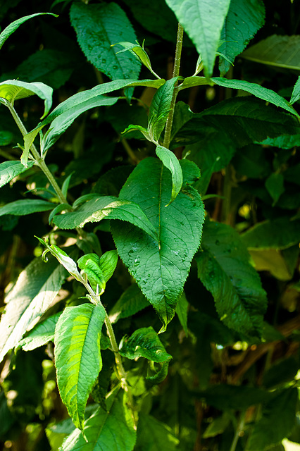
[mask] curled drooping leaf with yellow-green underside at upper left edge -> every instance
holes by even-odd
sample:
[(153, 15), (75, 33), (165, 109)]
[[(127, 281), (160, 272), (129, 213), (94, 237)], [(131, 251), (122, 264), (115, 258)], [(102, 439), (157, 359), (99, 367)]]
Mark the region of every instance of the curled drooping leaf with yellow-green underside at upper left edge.
[(41, 82), (26, 83), (20, 82), (19, 80), (6, 80), (5, 82), (0, 83), (0, 98), (5, 99), (11, 105), (13, 105), (15, 100), (25, 99), (25, 97), (30, 97), (34, 94), (44, 100), (45, 109), (42, 118), (44, 118), (51, 109), (52, 92), (53, 89), (50, 86), (44, 85), (44, 83)]

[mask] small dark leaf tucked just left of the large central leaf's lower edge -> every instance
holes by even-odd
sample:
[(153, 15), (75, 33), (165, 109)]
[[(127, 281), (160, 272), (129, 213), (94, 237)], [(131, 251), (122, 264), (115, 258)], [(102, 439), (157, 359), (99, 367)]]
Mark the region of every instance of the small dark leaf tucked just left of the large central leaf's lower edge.
[(136, 283), (130, 285), (120, 299), (115, 303), (109, 312), (111, 323), (116, 323), (119, 319), (128, 318), (135, 315), (138, 311), (149, 307), (149, 301), (144, 297)]

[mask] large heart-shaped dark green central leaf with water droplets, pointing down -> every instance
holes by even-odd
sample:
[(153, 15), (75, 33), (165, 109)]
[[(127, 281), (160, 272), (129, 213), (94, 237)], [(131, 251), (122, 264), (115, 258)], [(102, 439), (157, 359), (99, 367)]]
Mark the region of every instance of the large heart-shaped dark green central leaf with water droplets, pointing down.
[(159, 243), (132, 225), (112, 223), (118, 254), (163, 321), (175, 313), (177, 300), (201, 240), (204, 207), (188, 183), (199, 177), (191, 161), (180, 162), (182, 190), (169, 206), (170, 171), (157, 159), (147, 158), (132, 171), (120, 191), (120, 199), (139, 204), (158, 233)]

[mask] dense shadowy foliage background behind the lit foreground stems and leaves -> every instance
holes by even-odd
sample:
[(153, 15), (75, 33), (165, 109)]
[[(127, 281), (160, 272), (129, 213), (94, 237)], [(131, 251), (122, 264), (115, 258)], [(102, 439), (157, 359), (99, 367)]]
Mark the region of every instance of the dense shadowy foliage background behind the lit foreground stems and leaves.
[[(116, 4), (3, 0), (1, 30), (37, 12), (52, 12), (58, 17), (37, 16), (9, 37), (1, 48), (0, 82), (15, 78), (43, 82), (54, 89), (53, 104), (57, 106), (77, 92), (110, 80), (154, 78), (128, 52), (121, 54), (127, 58), (123, 73), (118, 72), (113, 61), (106, 61), (101, 37), (95, 30), (97, 8), (105, 3), (122, 8), (135, 30), (131, 31), (131, 39), (123, 37), (122, 28), (118, 28), (118, 20), (123, 19), (112, 10), (107, 20), (115, 30), (114, 43), (135, 43), (137, 39), (142, 44), (144, 40), (155, 73), (165, 80), (172, 78), (177, 19), (164, 0), (118, 0)], [(246, 15), (246, 4), (250, 12), (255, 11), (254, 19), (252, 13)], [(217, 58), (212, 75), (254, 82), (289, 100), (300, 73), (299, 1), (232, 0), (230, 8), (229, 31), (221, 35), (218, 51), (232, 61), (239, 56), (234, 66), (222, 56), (220, 61)], [(230, 30), (235, 32), (230, 35)], [(237, 49), (232, 49), (235, 45)], [(198, 56), (185, 34), (182, 77), (194, 74)], [(206, 222), (177, 314), (166, 331), (157, 335), (163, 352), (172, 356), (171, 360), (168, 357), (168, 370), (165, 368), (163, 375), (158, 371), (160, 376), (155, 381), (153, 374), (161, 361), (151, 362), (148, 367), (145, 356), (124, 359), (139, 412), (134, 447), (137, 451), (300, 449), (300, 445), (291, 447), (291, 442), (300, 443), (299, 122), (265, 99), (256, 99), (234, 87), (192, 86), (182, 89), (177, 97), (170, 149), (183, 159), (183, 165), (194, 161), (201, 170), (193, 186), (204, 201)], [(54, 143), (46, 163), (60, 186), (70, 181), (70, 204), (85, 194), (118, 196), (138, 163), (156, 157), (156, 146), (139, 130), (121, 135), (130, 124), (147, 126), (155, 92), (154, 87), (144, 86), (135, 87), (134, 92), (132, 88), (118, 91), (123, 99), (85, 111)], [(37, 96), (15, 101), (15, 109), (28, 131), (36, 127), (44, 111)], [(299, 111), (298, 99), (294, 109)], [(23, 146), (23, 137), (8, 109), (0, 105), (1, 162), (20, 159), (22, 149), (17, 143)], [(159, 160), (155, 161), (153, 172)], [(187, 180), (196, 179), (188, 171), (184, 175)], [(143, 177), (146, 180), (146, 171)], [(146, 189), (141, 185), (142, 193)], [(18, 199), (58, 204), (56, 193), (36, 166), (1, 187), (1, 206)], [(42, 245), (35, 236), (50, 235), (52, 243), (68, 248), (68, 254), (76, 260), (82, 252), (101, 255), (120, 246), (123, 237), (118, 235), (118, 227), (129, 227), (113, 220), (110, 229), (108, 219), (87, 223), (85, 235), (78, 240), (75, 230), (59, 230), (53, 223), (49, 226), (48, 220), (49, 211), (7, 214), (0, 208), (2, 311), (4, 292), (9, 299), (18, 275), (42, 254)], [(174, 240), (173, 246), (177, 252), (180, 244)], [(158, 333), (162, 322), (135, 283), (135, 271), (119, 247), (118, 253), (125, 264), (119, 259), (101, 301), (111, 316), (119, 343), (137, 329), (151, 326)], [(48, 265), (55, 263), (49, 261)], [(50, 274), (51, 266), (45, 267)], [(261, 277), (261, 285), (253, 267)], [(32, 275), (39, 271), (35, 266), (30, 268)], [(48, 276), (41, 273), (41, 277)], [(142, 288), (139, 274), (136, 279)], [(42, 319), (59, 314), (65, 306), (87, 302), (82, 297), (85, 288), (72, 277), (66, 278)], [(235, 302), (241, 299), (250, 326), (242, 307), (235, 310)], [(109, 344), (101, 342), (101, 347), (103, 369), (89, 396), (86, 418), (95, 412), (95, 403), (104, 412), (109, 410), (105, 396), (118, 382)], [(123, 354), (128, 357), (125, 347), (123, 343)], [(74, 426), (58, 393), (52, 341), (30, 352), (12, 351), (0, 369), (3, 449), (58, 450)], [(118, 428), (116, 431), (118, 435)], [(76, 449), (96, 449), (82, 443)], [(63, 449), (75, 450), (67, 446)], [(132, 447), (115, 445), (107, 449), (127, 451)]]

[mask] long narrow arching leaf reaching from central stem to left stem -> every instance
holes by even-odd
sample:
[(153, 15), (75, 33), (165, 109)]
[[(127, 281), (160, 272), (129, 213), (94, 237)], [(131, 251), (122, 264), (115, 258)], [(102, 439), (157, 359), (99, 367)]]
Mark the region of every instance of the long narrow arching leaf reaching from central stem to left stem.
[[(49, 132), (43, 138), (42, 145), (44, 151), (48, 149), (58, 137), (68, 128), (71, 123), (79, 116), (79, 114), (87, 111), (88, 109), (94, 108), (99, 105), (114, 104), (117, 101), (115, 97), (103, 97), (102, 94), (108, 94), (108, 92), (117, 91), (124, 87), (133, 86), (148, 86), (148, 87), (160, 87), (163, 85), (165, 80), (114, 80), (113, 82), (103, 83), (87, 91), (77, 92), (73, 96), (69, 97), (67, 100), (61, 102), (56, 109), (47, 116), (44, 121), (39, 123), (36, 128), (31, 132), (27, 133), (24, 138), (25, 151), (28, 152), (32, 142), (38, 135), (39, 131), (45, 125), (50, 124), (58, 116), (63, 115), (62, 119), (57, 119), (55, 123), (55, 130), (51, 132), (51, 127)], [(112, 103), (110, 103), (112, 102)]]

